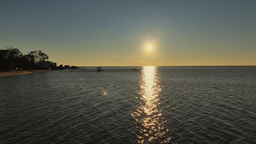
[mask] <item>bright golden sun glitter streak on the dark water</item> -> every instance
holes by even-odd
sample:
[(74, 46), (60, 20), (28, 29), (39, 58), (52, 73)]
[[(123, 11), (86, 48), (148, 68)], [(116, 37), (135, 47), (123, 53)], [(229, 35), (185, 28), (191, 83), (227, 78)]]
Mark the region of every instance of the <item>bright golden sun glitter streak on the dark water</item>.
[(168, 129), (164, 128), (166, 121), (158, 110), (161, 87), (155, 67), (143, 67), (141, 80), (141, 106), (131, 114), (137, 122), (135, 134), (138, 143), (169, 143)]

